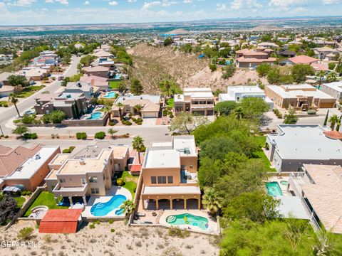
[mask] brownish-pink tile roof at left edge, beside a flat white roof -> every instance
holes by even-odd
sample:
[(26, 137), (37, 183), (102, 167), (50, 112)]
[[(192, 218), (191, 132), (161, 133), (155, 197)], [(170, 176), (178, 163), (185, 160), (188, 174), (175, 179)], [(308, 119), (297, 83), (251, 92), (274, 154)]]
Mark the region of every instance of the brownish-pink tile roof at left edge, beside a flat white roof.
[(11, 174), (11, 172), (21, 166), (26, 159), (34, 156), (41, 149), (41, 146), (41, 144), (37, 144), (31, 149), (24, 146), (17, 146), (15, 149), (0, 154), (0, 177)]

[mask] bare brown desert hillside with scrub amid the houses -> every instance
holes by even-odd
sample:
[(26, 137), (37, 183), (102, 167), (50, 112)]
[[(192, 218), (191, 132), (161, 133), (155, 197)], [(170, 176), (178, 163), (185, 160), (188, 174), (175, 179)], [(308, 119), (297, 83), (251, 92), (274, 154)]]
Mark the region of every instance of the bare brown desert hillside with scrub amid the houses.
[[(237, 72), (224, 80), (221, 78), (222, 70), (215, 72), (209, 70), (209, 60), (198, 60), (197, 55), (182, 53), (172, 47), (154, 47), (140, 44), (128, 50), (133, 56), (133, 68), (130, 76), (138, 78), (146, 93), (159, 92), (159, 82), (165, 78), (173, 78), (181, 88), (183, 87), (212, 87), (227, 90), (229, 85), (247, 85), (256, 82), (259, 78), (254, 70), (237, 70)], [(266, 80), (262, 80), (266, 84)]]

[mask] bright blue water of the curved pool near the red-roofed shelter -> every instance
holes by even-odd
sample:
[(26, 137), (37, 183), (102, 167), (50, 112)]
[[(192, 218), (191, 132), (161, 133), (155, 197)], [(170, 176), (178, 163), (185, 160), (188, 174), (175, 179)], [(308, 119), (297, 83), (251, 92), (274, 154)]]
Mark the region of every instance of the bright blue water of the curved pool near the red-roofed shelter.
[(115, 210), (115, 215), (122, 215), (123, 210), (118, 209), (123, 202), (125, 202), (127, 198), (123, 195), (116, 195), (110, 198), (110, 201), (105, 203), (95, 203), (93, 207), (90, 209), (90, 213), (94, 216), (105, 216), (110, 213), (112, 210)]

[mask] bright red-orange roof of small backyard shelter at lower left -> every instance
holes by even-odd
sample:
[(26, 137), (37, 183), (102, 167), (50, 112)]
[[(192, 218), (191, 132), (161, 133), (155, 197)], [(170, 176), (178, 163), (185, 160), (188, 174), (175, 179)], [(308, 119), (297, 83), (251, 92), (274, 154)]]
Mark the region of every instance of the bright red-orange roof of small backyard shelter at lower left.
[(48, 210), (39, 225), (39, 233), (76, 233), (82, 209)]

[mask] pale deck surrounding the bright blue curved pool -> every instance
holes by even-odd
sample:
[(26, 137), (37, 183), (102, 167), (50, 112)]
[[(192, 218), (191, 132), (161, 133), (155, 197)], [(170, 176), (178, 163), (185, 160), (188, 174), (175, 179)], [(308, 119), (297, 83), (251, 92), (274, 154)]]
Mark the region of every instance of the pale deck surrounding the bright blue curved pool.
[[(132, 200), (132, 194), (130, 193), (130, 191), (128, 191), (128, 189), (120, 187), (120, 186), (112, 186), (112, 188), (110, 188), (110, 190), (107, 191), (107, 194), (105, 196), (90, 196), (90, 199), (87, 203), (87, 206), (84, 208), (82, 216), (83, 217), (87, 217), (87, 218), (101, 218), (100, 216), (94, 216), (93, 214), (90, 213), (90, 209), (93, 207), (93, 205), (95, 203), (106, 203), (108, 201), (110, 201), (110, 198), (112, 198), (113, 196), (117, 196), (117, 195), (123, 195), (127, 198), (127, 200)], [(108, 213), (107, 215), (103, 216), (104, 218), (122, 218), (123, 216), (120, 215), (115, 215), (115, 210), (113, 209), (112, 211), (110, 211), (110, 213)]]

